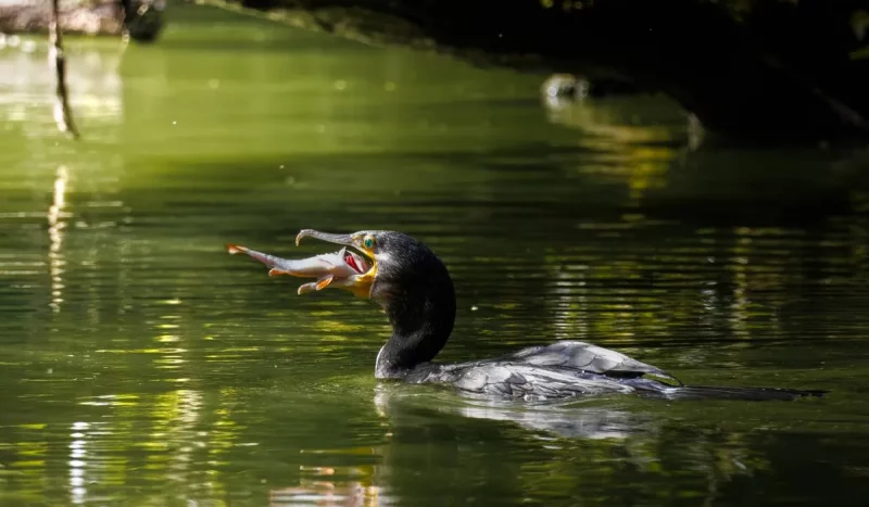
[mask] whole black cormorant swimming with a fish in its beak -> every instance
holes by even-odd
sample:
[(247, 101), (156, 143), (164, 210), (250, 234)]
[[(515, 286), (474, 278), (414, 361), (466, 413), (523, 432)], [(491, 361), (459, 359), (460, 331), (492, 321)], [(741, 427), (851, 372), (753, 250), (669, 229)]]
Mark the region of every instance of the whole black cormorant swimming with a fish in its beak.
[[(312, 266), (316, 261), (305, 259), (308, 263), (305, 276), (320, 280), (315, 284), (317, 291), (330, 287), (345, 289), (383, 308), (392, 325), (392, 335), (377, 355), (375, 377), (378, 379), (445, 384), (466, 393), (526, 401), (614, 393), (751, 401), (823, 394), (822, 391), (792, 389), (685, 385), (660, 368), (579, 341), (527, 347), (493, 359), (434, 363), (453, 331), (456, 314), (452, 279), (434, 252), (420, 241), (395, 231), (332, 235), (305, 229), (299, 232), (297, 244), (305, 237), (356, 249), (368, 258), (369, 262), (360, 262), (358, 257), (342, 254), (347, 255), (343, 257), (347, 265), (324, 262), (322, 272), (315, 272)], [(248, 253), (272, 268), (273, 263), (286, 261), (243, 246), (228, 245), (228, 250)]]

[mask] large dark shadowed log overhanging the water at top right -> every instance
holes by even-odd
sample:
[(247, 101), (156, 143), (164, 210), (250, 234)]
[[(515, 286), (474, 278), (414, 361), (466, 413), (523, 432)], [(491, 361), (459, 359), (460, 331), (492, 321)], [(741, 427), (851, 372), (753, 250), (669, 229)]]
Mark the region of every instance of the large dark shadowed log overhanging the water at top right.
[(869, 137), (864, 1), (240, 0), (366, 42), (633, 83), (709, 130), (785, 140)]

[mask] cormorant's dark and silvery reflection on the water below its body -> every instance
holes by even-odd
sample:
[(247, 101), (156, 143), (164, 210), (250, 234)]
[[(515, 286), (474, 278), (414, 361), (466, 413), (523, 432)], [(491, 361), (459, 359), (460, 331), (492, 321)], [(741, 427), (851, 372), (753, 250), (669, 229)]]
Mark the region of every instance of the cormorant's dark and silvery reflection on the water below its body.
[[(463, 471), (471, 474), (488, 468), (490, 472), (502, 476), (500, 481), (498, 477), (490, 480), (503, 485), (492, 487), (489, 492), (492, 497), (477, 498), (487, 504), (496, 505), (501, 498), (515, 500), (515, 495), (550, 502), (569, 497), (571, 502), (578, 502), (599, 494), (612, 494), (607, 492), (608, 486), (601, 484), (610, 481), (619, 484), (618, 491), (626, 499), (640, 499), (657, 496), (659, 492), (650, 495), (652, 492), (648, 490), (654, 489), (650, 489), (650, 484), (660, 481), (696, 503), (710, 505), (728, 483), (765, 473), (770, 467), (769, 461), (757, 455), (748, 439), (739, 431), (728, 433), (691, 424), (677, 430), (653, 414), (625, 409), (617, 400), (530, 408), (506, 404), (495, 406), (495, 403), (487, 407), (470, 407), (453, 402), (451, 409), (444, 407), (451, 404), (446, 397), (438, 401), (437, 408), (432, 408), (434, 398), (431, 396), (417, 394), (416, 397), (414, 400), (406, 391), (399, 390), (378, 393), (378, 409), (383, 410), (383, 417), (389, 417), (396, 443), (406, 444), (418, 439), (420, 433), (433, 433), (434, 424), (443, 424), (443, 418), (432, 417), (432, 411), (511, 420), (534, 431), (531, 442), (516, 442), (517, 434), (513, 432), (500, 434), (496, 431), (480, 438), (484, 429), (479, 429), (475, 436), (462, 434), (475, 433), (475, 430), (465, 429), (449, 438), (441, 434), (437, 438), (437, 445), (428, 447), (426, 457), (429, 465), (423, 466), (423, 473), (418, 474), (424, 477), (417, 479), (418, 482), (426, 480), (426, 473), (446, 464), (455, 467), (461, 462)], [(385, 449), (385, 461), (378, 467), (378, 474), (392, 477), (394, 484), (412, 482), (406, 476), (420, 471), (418, 461), (411, 461), (417, 453), (402, 453), (402, 447), (406, 445)], [(536, 451), (531, 453), (529, 447)], [(468, 467), (463, 462), (487, 460), (490, 453), (506, 458), (500, 469), (495, 467), (492, 470), (491, 465)], [(514, 454), (521, 458), (512, 459)], [(411, 466), (412, 462), (416, 465)], [(644, 480), (633, 482), (639, 477)]]

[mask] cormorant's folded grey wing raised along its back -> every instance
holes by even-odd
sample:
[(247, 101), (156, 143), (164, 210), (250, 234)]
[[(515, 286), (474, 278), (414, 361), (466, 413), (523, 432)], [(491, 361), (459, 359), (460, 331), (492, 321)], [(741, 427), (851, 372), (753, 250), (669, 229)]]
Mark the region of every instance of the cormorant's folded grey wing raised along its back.
[(647, 373), (682, 384), (679, 379), (660, 368), (585, 342), (561, 341), (551, 345), (532, 346), (511, 354), (504, 359), (551, 368), (575, 368), (612, 377), (642, 377)]

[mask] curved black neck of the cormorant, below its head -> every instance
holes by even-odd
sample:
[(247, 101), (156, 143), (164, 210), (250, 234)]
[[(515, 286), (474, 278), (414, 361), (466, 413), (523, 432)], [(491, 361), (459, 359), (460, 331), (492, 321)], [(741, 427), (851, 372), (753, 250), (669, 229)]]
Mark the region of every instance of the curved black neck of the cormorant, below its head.
[(392, 337), (377, 355), (375, 377), (404, 378), (438, 355), (453, 332), (455, 291), (446, 267), (433, 254), (404, 276), (377, 282), (377, 300), (392, 325)]

